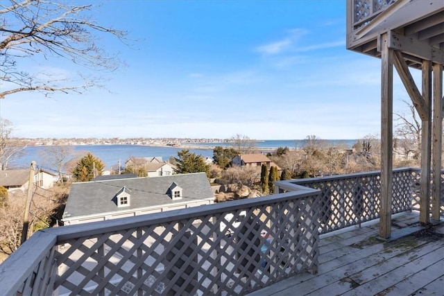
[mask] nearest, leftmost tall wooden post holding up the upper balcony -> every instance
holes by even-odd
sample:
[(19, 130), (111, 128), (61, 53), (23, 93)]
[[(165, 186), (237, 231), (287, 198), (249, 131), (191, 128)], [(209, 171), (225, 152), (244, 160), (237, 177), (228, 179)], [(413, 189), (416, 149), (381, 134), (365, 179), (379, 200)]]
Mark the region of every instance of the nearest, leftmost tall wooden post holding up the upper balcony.
[(393, 50), (388, 49), (387, 33), (380, 36), (381, 48), (381, 209), (379, 236), (391, 236), (393, 176)]

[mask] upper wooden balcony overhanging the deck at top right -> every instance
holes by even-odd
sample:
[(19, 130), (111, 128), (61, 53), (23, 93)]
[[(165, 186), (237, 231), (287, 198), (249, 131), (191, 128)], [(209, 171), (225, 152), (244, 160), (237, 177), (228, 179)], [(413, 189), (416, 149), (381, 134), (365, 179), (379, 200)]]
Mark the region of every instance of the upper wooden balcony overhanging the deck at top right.
[(423, 60), (444, 64), (444, 1), (347, 1), (347, 49), (380, 58), (383, 33), (409, 67), (420, 69)]

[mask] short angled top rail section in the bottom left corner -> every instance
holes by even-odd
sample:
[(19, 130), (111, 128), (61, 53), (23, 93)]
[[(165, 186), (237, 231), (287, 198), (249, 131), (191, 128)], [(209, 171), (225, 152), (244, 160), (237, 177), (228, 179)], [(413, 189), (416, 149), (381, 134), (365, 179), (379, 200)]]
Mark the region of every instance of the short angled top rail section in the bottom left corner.
[(0, 264), (0, 295), (9, 295), (19, 290), (25, 279), (56, 245), (57, 236), (36, 232)]

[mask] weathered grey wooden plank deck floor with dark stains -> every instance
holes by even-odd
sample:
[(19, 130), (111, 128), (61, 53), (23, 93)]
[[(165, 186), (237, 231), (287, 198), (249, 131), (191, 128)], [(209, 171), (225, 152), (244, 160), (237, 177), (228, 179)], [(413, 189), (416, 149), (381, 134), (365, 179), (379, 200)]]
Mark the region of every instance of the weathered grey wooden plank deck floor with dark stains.
[[(392, 236), (418, 225), (416, 213), (398, 216)], [(249, 295), (444, 295), (443, 222), (391, 241), (378, 233), (374, 224), (324, 236), (317, 275), (297, 275)]]

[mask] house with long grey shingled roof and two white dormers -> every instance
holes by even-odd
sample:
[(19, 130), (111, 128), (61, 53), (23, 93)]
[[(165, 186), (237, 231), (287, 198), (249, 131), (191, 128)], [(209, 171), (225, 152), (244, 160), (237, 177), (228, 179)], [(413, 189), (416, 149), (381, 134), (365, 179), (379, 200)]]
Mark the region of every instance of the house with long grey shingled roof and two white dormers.
[(212, 203), (205, 173), (95, 180), (71, 185), (62, 220), (73, 225)]

